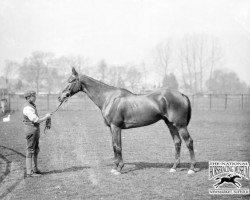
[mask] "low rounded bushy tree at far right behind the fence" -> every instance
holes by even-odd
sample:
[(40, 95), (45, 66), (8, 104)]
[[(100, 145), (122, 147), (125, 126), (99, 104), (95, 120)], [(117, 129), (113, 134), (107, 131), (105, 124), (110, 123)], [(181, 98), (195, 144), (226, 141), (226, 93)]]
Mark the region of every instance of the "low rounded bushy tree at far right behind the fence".
[(233, 71), (215, 70), (212, 77), (206, 82), (210, 92), (213, 93), (246, 93), (247, 85), (241, 82)]

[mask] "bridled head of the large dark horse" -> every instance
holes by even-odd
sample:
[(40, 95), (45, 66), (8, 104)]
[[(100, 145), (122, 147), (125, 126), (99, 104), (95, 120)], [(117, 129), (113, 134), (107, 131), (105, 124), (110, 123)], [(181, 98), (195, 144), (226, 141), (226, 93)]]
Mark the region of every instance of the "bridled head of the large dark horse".
[(82, 90), (81, 82), (79, 80), (79, 75), (75, 68), (72, 68), (72, 75), (67, 80), (67, 85), (60, 92), (58, 100), (60, 102), (65, 101), (67, 98), (73, 96), (77, 92)]

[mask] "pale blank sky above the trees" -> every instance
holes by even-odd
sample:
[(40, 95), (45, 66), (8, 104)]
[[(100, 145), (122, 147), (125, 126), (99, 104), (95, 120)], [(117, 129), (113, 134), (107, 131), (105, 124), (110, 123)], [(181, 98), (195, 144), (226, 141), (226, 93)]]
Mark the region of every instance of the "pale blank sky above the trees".
[(166, 38), (197, 33), (217, 37), (221, 67), (250, 85), (248, 0), (0, 0), (0, 75), (34, 51), (141, 63)]

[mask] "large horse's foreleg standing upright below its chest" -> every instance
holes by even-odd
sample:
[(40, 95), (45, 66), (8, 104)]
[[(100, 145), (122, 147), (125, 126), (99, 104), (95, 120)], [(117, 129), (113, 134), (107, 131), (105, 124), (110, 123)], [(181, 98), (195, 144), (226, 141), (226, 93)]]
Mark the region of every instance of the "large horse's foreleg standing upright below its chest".
[(113, 174), (120, 174), (124, 166), (122, 159), (122, 139), (121, 139), (121, 129), (115, 125), (111, 125), (112, 132), (112, 143), (113, 150), (115, 154), (115, 168), (111, 170)]

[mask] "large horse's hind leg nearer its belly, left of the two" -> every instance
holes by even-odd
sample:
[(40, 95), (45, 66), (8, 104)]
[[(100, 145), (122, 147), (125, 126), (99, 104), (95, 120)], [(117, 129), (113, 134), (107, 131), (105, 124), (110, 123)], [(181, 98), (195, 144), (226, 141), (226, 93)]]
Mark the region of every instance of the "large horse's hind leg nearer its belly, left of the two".
[(176, 168), (180, 164), (181, 138), (180, 138), (177, 128), (167, 119), (164, 119), (164, 121), (169, 128), (169, 131), (173, 138), (174, 146), (175, 146), (175, 163), (173, 167), (170, 169), (170, 172), (176, 172)]

